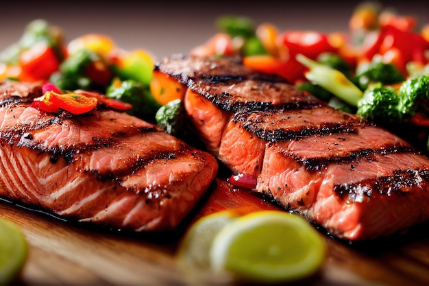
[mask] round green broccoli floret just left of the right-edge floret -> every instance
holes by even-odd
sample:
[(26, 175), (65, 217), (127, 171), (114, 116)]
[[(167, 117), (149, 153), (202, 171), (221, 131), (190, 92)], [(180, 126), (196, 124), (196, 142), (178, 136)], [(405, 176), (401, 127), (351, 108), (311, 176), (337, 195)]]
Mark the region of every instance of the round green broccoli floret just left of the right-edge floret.
[(400, 98), (394, 88), (378, 84), (365, 91), (358, 102), (356, 114), (364, 119), (378, 123), (394, 123), (400, 121), (397, 104)]

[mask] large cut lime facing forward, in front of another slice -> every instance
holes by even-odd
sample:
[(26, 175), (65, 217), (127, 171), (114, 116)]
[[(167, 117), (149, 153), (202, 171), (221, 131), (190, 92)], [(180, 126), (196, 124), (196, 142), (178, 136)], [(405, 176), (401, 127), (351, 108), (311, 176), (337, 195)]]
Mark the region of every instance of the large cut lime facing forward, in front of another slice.
[(219, 231), (210, 248), (210, 264), (245, 280), (278, 283), (315, 273), (325, 252), (321, 234), (303, 217), (259, 211)]

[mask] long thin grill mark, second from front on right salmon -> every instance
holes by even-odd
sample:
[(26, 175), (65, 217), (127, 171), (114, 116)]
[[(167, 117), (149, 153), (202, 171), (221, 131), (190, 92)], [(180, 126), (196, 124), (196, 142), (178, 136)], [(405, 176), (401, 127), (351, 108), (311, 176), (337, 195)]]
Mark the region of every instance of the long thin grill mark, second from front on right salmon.
[[(411, 147), (397, 147), (397, 146), (385, 146), (383, 149), (363, 149), (350, 152), (348, 156), (338, 157), (321, 157), (321, 158), (301, 158), (294, 156), (295, 160), (302, 163), (308, 171), (319, 171), (324, 167), (327, 167), (333, 163), (352, 163), (360, 160), (373, 160), (374, 154), (387, 155), (387, 154), (400, 154), (400, 153), (413, 153), (415, 150)], [(350, 169), (354, 169), (354, 165), (350, 165)]]

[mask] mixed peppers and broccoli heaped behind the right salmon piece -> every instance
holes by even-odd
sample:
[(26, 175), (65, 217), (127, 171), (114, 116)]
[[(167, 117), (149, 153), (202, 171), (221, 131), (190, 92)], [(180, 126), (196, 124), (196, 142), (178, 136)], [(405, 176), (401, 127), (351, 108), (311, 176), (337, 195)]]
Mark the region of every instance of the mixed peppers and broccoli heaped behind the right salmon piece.
[[(243, 16), (221, 17), (219, 34), (191, 55), (240, 55), (247, 67), (280, 75), (329, 106), (374, 121), (428, 152), (429, 23), (363, 2), (348, 24), (347, 31), (332, 33), (282, 32), (273, 23), (256, 26)], [(232, 51), (214, 49), (219, 35), (235, 44)]]

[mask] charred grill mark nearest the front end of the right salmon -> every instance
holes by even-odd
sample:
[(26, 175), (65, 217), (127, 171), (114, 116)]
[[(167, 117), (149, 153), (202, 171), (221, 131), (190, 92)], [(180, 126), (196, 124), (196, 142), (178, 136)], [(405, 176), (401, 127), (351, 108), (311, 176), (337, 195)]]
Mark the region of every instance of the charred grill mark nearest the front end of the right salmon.
[(381, 195), (394, 195), (406, 193), (413, 187), (429, 183), (428, 169), (396, 170), (392, 176), (381, 176), (357, 182), (354, 184), (339, 184), (334, 186), (334, 191), (341, 198), (356, 198), (356, 195), (371, 197), (374, 192)]

